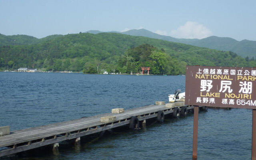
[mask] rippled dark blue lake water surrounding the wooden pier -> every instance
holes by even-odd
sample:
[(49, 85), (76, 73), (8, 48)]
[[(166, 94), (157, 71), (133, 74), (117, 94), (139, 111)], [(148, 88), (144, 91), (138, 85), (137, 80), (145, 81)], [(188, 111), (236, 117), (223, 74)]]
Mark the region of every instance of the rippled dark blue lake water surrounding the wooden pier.
[[(185, 91), (185, 76), (0, 72), (0, 126), (19, 130), (108, 113), (112, 108), (167, 102), (176, 89)], [(43, 148), (18, 154), (18, 159), (191, 160), (192, 137), (193, 114), (166, 116), (164, 123), (147, 123), (138, 131), (85, 137), (80, 146), (64, 142), (58, 152)], [(251, 143), (252, 110), (200, 112), (198, 160), (247, 160)]]

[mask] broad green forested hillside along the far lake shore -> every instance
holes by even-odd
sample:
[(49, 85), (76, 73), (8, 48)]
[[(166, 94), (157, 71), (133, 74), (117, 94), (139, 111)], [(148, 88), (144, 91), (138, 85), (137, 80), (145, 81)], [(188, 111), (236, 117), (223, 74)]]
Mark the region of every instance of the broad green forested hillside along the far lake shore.
[(142, 36), (118, 33), (79, 33), (46, 38), (37, 44), (0, 46), (0, 68), (46, 68), (86, 73), (140, 72), (184, 74), (185, 65), (256, 66), (254, 59), (233, 52), (200, 48)]

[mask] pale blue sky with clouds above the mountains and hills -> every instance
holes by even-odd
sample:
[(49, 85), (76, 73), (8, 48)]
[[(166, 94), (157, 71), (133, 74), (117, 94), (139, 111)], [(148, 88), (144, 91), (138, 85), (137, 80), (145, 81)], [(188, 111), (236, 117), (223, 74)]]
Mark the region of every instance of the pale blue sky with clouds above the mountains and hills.
[(174, 38), (256, 40), (256, 0), (0, 0), (4, 35), (141, 28)]

